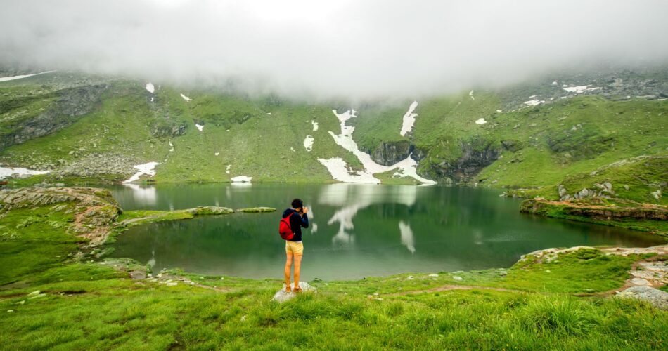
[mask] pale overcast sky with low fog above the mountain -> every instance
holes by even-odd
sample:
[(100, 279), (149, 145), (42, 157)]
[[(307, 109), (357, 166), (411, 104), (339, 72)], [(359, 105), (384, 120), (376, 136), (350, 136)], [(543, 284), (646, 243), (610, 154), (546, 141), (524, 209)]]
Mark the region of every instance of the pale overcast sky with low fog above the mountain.
[(0, 0), (0, 60), (319, 98), (668, 58), (666, 0)]

